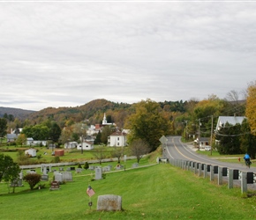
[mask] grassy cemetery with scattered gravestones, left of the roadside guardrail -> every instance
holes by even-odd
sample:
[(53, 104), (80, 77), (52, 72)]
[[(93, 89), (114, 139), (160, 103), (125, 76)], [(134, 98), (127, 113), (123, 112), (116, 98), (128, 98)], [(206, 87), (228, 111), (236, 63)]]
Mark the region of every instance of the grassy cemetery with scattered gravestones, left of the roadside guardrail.
[[(218, 167), (211, 168), (192, 161), (169, 161), (168, 163), (159, 161), (156, 163), (156, 158), (143, 158), (139, 163), (135, 159), (127, 160), (125, 164), (124, 161), (120, 164), (117, 162), (106, 162), (101, 165), (94, 163), (89, 164), (88, 169), (84, 169), (83, 165), (79, 168), (79, 165), (54, 166), (49, 164), (23, 169), (19, 175), (20, 180), (26, 173), (40, 173), (40, 185), (31, 191), (26, 182), (16, 181), (15, 207), (17, 209), (11, 212), (8, 206), (11, 196), (3, 194), (4, 184), (1, 184), (0, 198), (2, 197), (4, 202), (0, 209), (7, 212), (9, 210), (8, 215), (4, 214), (4, 219), (8, 219), (7, 216), (11, 219), (33, 218), (37, 215), (37, 209), (32, 209), (29, 214), (26, 214), (27, 218), (25, 216), (19, 218), (19, 216), (23, 215), (25, 204), (33, 208), (39, 206), (41, 202), (43, 206), (38, 219), (172, 219), (177, 215), (180, 218), (191, 215), (194, 218), (207, 218), (209, 210), (213, 215), (218, 216), (220, 203), (215, 204), (211, 201), (217, 201), (220, 194), (224, 197), (222, 211), (225, 213), (230, 213), (230, 206), (227, 204), (233, 196), (236, 196), (237, 200), (234, 200), (232, 207), (240, 204), (242, 200), (246, 209), (251, 209), (252, 203), (255, 202), (253, 196), (250, 201), (245, 200), (241, 195), (237, 197), (237, 194), (241, 194), (241, 187), (234, 185), (228, 188), (229, 185), (224, 180), (228, 178), (226, 175), (230, 171), (222, 169), (220, 172)], [(216, 170), (222, 173), (223, 179)], [(211, 173), (214, 173), (214, 177), (211, 177)], [(222, 185), (219, 185), (221, 182)], [(88, 184), (95, 192), (91, 197), (87, 195)], [(182, 187), (184, 184), (186, 188)], [(228, 190), (230, 193), (226, 193)], [(178, 198), (177, 194), (181, 198)], [(231, 194), (232, 197), (230, 198), (227, 194)], [(186, 202), (187, 195), (189, 195), (191, 204)], [(225, 202), (226, 196), (228, 197)], [(204, 205), (207, 203), (211, 204), (211, 208)], [(62, 209), (62, 207), (69, 207), (69, 209)], [(196, 208), (193, 209), (193, 207)], [(183, 211), (177, 213), (177, 209), (183, 209)], [(117, 212), (117, 214), (113, 216), (111, 212)], [(231, 218), (235, 219), (237, 215), (243, 218), (247, 214), (232, 209)], [(226, 219), (227, 217), (228, 214), (222, 216)]]

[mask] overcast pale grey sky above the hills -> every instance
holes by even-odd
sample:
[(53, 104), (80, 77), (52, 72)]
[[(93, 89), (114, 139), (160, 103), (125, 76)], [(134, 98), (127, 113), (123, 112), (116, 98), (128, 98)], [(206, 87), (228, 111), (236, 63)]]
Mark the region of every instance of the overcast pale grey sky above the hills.
[(0, 106), (225, 99), (256, 79), (256, 1), (1, 1)]

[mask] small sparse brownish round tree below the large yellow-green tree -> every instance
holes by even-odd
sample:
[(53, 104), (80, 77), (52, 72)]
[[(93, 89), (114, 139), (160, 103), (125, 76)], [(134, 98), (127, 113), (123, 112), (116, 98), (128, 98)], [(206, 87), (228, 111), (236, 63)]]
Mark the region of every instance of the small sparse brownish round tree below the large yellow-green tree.
[(129, 148), (131, 150), (132, 156), (135, 156), (137, 158), (138, 163), (143, 155), (147, 154), (150, 151), (148, 144), (141, 139), (133, 140)]

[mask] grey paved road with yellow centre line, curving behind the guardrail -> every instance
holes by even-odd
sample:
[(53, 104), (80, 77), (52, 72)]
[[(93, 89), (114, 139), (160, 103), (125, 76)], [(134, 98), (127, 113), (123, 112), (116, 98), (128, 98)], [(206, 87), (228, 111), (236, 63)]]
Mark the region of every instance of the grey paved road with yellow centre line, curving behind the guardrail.
[(195, 152), (192, 145), (182, 143), (180, 136), (167, 136), (167, 138), (168, 138), (168, 142), (164, 150), (164, 156), (167, 158), (192, 160), (195, 162), (199, 162), (201, 164), (218, 165), (221, 167), (228, 167), (230, 169), (237, 169), (242, 172), (256, 173), (256, 167), (251, 167), (249, 169), (242, 162), (239, 164), (237, 161), (237, 164), (231, 164), (231, 163), (218, 161), (215, 158), (208, 158), (205, 155), (200, 155)]

